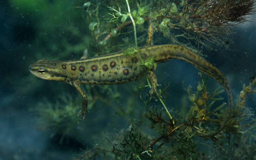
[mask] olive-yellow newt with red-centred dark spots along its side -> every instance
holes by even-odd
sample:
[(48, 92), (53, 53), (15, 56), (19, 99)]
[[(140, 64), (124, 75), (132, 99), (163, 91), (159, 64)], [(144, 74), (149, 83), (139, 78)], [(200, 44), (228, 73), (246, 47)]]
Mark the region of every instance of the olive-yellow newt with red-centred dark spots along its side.
[[(154, 73), (159, 62), (170, 59), (184, 60), (195, 66), (198, 70), (212, 76), (222, 85), (228, 95), (228, 108), (231, 112), (233, 106), (232, 90), (226, 77), (215, 66), (204, 60), (196, 53), (178, 45), (153, 45), (138, 49), (138, 54), (128, 55), (118, 51), (107, 55), (91, 58), (82, 57), (80, 60), (52, 61), (41, 59), (29, 66), (35, 76), (46, 80), (57, 80), (74, 86), (82, 96), (82, 111), (79, 121), (84, 119), (87, 109), (87, 96), (81, 90), (81, 84), (123, 84), (137, 80), (147, 74), (152, 85), (150, 95), (157, 94), (157, 79)], [(144, 62), (154, 60), (152, 68), (146, 68)], [(146, 71), (146, 72), (145, 72)], [(229, 114), (215, 133), (202, 135), (213, 137), (226, 125)], [(79, 123), (79, 122), (78, 122)]]

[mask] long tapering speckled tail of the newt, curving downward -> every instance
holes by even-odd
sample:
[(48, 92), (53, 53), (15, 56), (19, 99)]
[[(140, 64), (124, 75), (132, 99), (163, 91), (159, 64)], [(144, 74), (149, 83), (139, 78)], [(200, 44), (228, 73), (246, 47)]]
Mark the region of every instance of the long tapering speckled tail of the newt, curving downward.
[(228, 119), (230, 117), (230, 113), (233, 108), (233, 96), (232, 96), (232, 90), (230, 87), (230, 84), (227, 80), (227, 78), (218, 70), (215, 66), (207, 62), (205, 59), (197, 55), (196, 53), (190, 51), (189, 49), (186, 49), (185, 47), (178, 46), (178, 45), (161, 45), (161, 46), (153, 46), (155, 47), (156, 53), (158, 55), (155, 57), (155, 62), (166, 62), (170, 59), (180, 59), (184, 60), (185, 62), (188, 62), (195, 66), (198, 70), (212, 76), (220, 85), (222, 85), (227, 94), (228, 94), (228, 109), (229, 113), (226, 116), (226, 119), (215, 133), (209, 134), (209, 135), (201, 135), (200, 137), (213, 137), (220, 133), (226, 123), (228, 122)]

